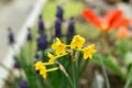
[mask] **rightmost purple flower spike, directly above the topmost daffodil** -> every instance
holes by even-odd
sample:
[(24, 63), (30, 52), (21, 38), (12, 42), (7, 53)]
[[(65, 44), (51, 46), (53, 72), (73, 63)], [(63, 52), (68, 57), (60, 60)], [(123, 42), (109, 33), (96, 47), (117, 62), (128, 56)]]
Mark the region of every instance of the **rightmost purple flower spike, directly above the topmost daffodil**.
[(74, 22), (74, 18), (70, 18), (67, 36), (73, 36), (73, 35), (75, 35), (75, 22)]

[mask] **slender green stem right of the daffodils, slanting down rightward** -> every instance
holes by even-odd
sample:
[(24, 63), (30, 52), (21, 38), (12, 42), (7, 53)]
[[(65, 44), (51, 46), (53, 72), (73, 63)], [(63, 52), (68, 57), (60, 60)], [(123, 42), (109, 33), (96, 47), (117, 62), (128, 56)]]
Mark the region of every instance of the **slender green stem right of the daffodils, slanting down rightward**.
[(110, 82), (109, 82), (109, 78), (108, 78), (108, 75), (107, 75), (106, 67), (103, 65), (103, 61), (102, 61), (101, 57), (99, 57), (99, 58), (100, 58), (100, 64), (101, 64), (101, 67), (102, 67), (102, 73), (103, 73), (103, 76), (105, 76), (107, 88), (110, 88)]

